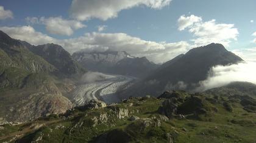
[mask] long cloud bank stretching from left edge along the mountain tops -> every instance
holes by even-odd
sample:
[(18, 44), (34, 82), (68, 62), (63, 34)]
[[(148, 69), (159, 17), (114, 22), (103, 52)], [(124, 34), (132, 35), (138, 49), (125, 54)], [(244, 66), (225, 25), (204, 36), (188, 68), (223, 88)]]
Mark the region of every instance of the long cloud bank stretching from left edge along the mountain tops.
[(43, 33), (36, 32), (31, 26), (23, 27), (0, 27), (2, 31), (12, 38), (21, 39), (34, 45), (55, 43), (62, 45), (69, 53), (79, 50), (126, 51), (131, 55), (146, 56), (150, 61), (166, 62), (181, 53), (190, 50), (191, 45), (187, 42), (154, 42), (129, 36), (125, 33), (86, 33), (84, 36), (72, 39), (54, 39)]

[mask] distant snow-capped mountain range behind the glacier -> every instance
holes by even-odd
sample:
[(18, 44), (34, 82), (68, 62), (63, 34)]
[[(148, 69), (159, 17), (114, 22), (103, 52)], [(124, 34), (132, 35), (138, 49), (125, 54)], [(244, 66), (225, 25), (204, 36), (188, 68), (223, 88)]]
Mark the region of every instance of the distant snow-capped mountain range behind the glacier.
[(73, 55), (88, 70), (143, 77), (158, 67), (147, 58), (135, 58), (126, 52), (76, 52)]

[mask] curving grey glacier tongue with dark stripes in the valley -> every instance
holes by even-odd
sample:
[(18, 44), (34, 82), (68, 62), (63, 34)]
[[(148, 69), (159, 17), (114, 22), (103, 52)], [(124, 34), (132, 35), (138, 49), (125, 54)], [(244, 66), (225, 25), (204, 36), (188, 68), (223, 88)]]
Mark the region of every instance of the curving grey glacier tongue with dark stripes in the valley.
[(120, 99), (116, 95), (116, 91), (135, 79), (130, 76), (107, 75), (103, 73), (101, 73), (101, 76), (104, 76), (101, 81), (78, 85), (71, 91), (69, 96), (71, 101), (76, 105), (84, 105), (91, 99), (100, 99), (107, 104), (119, 102)]

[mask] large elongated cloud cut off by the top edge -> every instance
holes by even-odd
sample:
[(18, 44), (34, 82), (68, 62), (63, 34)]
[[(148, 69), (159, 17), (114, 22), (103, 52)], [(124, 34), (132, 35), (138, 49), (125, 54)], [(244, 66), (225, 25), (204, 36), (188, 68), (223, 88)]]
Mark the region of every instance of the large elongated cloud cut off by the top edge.
[(85, 21), (91, 18), (107, 20), (116, 18), (121, 10), (145, 5), (159, 9), (169, 5), (171, 0), (73, 0), (70, 14), (73, 18)]

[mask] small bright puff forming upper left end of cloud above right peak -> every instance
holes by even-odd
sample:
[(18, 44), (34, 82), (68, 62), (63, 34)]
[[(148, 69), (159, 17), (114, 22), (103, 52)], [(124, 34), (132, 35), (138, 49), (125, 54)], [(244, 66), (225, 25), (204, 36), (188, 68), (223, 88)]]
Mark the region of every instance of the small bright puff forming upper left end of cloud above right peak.
[(178, 25), (179, 25), (179, 30), (185, 30), (185, 28), (190, 27), (191, 25), (193, 25), (196, 22), (201, 22), (202, 18), (198, 17), (198, 16), (188, 16), (185, 17), (185, 15), (180, 16), (180, 18), (178, 19)]

